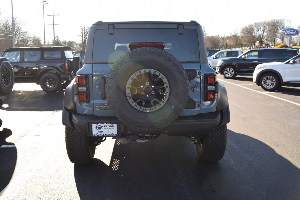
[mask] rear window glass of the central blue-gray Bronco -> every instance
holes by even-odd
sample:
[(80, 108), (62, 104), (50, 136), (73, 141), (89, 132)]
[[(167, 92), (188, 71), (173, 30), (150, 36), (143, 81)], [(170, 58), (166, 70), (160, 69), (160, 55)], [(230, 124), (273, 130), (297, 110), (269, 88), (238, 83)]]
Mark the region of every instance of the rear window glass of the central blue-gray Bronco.
[(108, 29), (95, 31), (93, 62), (115, 62), (129, 51), (131, 42), (164, 42), (164, 50), (181, 62), (199, 62), (197, 31), (184, 29), (178, 34), (177, 29), (115, 29), (108, 34)]

